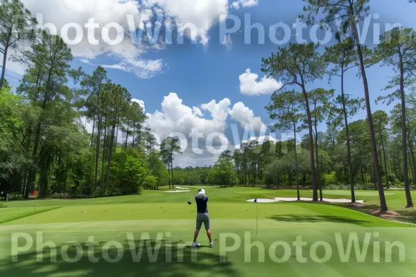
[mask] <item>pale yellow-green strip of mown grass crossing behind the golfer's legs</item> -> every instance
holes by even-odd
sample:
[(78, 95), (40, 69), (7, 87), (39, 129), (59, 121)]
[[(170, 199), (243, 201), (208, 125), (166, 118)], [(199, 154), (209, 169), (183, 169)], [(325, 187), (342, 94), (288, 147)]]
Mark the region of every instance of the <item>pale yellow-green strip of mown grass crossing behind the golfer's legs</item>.
[[(402, 226), (395, 222), (365, 215), (338, 206), (309, 203), (259, 204), (257, 213), (260, 219), (280, 220), (282, 222), (336, 222), (359, 226)], [(252, 220), (256, 217), (256, 205), (212, 204), (209, 214), (215, 220)], [(64, 215), (64, 216), (62, 216)], [(53, 224), (68, 222), (103, 222), (128, 220), (193, 220), (195, 206), (187, 204), (119, 204), (94, 206), (66, 206), (37, 214), (6, 224)]]

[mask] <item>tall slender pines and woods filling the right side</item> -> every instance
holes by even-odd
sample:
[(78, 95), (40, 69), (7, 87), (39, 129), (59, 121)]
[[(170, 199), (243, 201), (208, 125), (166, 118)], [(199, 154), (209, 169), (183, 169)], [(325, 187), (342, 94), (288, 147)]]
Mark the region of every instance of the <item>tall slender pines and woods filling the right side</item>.
[[(264, 151), (263, 154), (252, 154), (259, 153), (254, 151), (259, 150), (255, 142), (243, 145), (241, 152), (233, 155), (240, 181), (253, 184), (262, 183), (264, 179), (267, 184), (272, 178), (273, 182), (281, 183), (284, 181), (283, 172), (286, 171), (288, 179), (295, 175), (298, 186), (301, 182), (310, 181), (313, 200), (317, 201), (319, 198), (322, 200), (322, 183), (325, 179), (336, 177), (336, 180), (342, 181), (347, 177), (352, 202), (355, 202), (356, 184), (372, 181), (379, 190), (381, 210), (387, 211), (384, 186), (399, 180), (404, 184), (406, 205), (412, 207), (410, 182), (414, 182), (416, 170), (413, 153), (414, 106), (410, 100), (414, 95), (410, 95), (410, 92), (415, 90), (415, 31), (412, 28), (393, 28), (381, 35), (380, 44), (369, 49), (360, 40), (357, 24), (368, 15), (370, 0), (305, 2), (305, 14), (300, 15), (300, 18), (305, 19), (310, 26), (321, 24), (327, 28), (342, 27), (335, 30), (338, 44), (326, 47), (323, 54), (318, 51), (320, 45), (313, 43), (279, 47), (276, 53), (263, 59), (262, 71), (283, 84), (272, 95), (272, 104), (266, 107), (270, 118), (277, 121), (272, 129), (289, 130), (294, 134), (306, 129), (308, 135), (302, 141), (302, 148), (309, 152), (309, 161), (304, 163), (306, 157), (297, 154), (295, 148), (299, 147), (299, 140), (296, 137), (293, 155), (286, 154), (284, 159), (272, 157), (271, 162)], [(367, 80), (367, 68), (370, 66), (388, 66), (392, 70), (392, 78), (385, 87), (390, 94), (377, 99), (388, 104), (399, 100), (399, 105), (390, 114), (390, 120), (382, 111), (372, 114), (370, 84)], [(354, 99), (345, 93), (345, 83), (349, 82), (347, 72), (352, 69), (358, 69), (363, 81), (363, 99)], [(312, 82), (324, 78), (330, 81), (337, 78), (340, 87), (311, 88)], [(367, 111), (367, 118), (349, 123), (349, 119), (361, 108)], [(324, 135), (318, 132), (320, 123), (327, 123), (328, 129)], [(263, 145), (260, 150), (262, 148)], [(304, 170), (307, 164), (309, 168), (306, 174)], [(330, 170), (335, 175), (330, 173), (332, 177), (327, 178)]]

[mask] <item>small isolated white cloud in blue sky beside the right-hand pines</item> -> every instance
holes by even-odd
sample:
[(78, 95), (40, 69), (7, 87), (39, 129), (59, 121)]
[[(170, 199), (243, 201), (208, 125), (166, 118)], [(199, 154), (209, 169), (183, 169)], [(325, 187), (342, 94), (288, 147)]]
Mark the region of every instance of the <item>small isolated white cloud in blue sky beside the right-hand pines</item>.
[(240, 92), (249, 96), (259, 96), (263, 94), (272, 94), (273, 92), (281, 89), (281, 82), (273, 78), (264, 76), (259, 79), (259, 75), (252, 73), (250, 69), (247, 69), (245, 73), (241, 74), (240, 77)]

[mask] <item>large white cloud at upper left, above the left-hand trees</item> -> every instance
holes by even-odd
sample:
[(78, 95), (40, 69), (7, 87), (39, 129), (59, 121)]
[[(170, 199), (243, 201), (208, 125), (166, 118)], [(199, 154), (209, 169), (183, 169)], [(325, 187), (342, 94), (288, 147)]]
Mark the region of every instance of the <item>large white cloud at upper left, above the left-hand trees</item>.
[[(146, 60), (141, 57), (152, 47), (134, 44), (128, 35), (130, 31), (128, 15), (135, 20), (136, 26), (140, 26), (141, 20), (148, 20), (152, 12), (141, 9), (138, 1), (23, 0), (23, 2), (33, 16), (37, 17), (38, 28), (44, 28), (60, 36), (64, 34), (69, 41), (79, 37), (79, 43), (72, 43), (69, 46), (74, 57), (80, 58), (81, 62), (93, 65), (97, 64), (94, 60), (105, 56), (114, 60), (114, 64), (107, 68), (130, 72), (139, 78), (151, 78), (162, 72), (161, 60)], [(96, 28), (91, 31), (85, 28), (85, 24), (92, 24), (90, 19), (96, 24)], [(107, 24), (112, 24), (113, 27)], [(73, 27), (76, 25), (81, 27), (78, 31)], [(116, 25), (121, 26), (123, 32), (117, 32), (114, 28)], [(72, 27), (64, 32), (64, 26)], [(119, 43), (114, 45), (106, 43), (103, 33), (107, 33), (110, 40), (119, 39)]]

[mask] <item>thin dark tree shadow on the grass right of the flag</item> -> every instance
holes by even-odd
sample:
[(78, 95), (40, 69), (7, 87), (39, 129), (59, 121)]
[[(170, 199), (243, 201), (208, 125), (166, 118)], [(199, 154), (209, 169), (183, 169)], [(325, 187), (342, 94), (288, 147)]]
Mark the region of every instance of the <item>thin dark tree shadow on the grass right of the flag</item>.
[(268, 217), (270, 220), (277, 220), (282, 222), (331, 222), (331, 223), (347, 223), (363, 225), (369, 223), (364, 220), (355, 220), (351, 217), (342, 217), (338, 215), (273, 215)]

